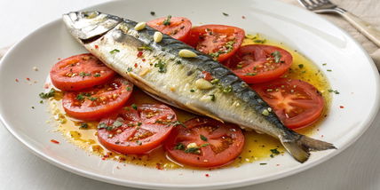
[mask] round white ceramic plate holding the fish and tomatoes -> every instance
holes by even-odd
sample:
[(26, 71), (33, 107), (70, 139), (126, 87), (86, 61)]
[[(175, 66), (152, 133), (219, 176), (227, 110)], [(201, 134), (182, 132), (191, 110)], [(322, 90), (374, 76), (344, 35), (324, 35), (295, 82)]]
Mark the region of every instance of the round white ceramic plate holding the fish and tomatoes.
[[(372, 59), (344, 31), (311, 12), (276, 1), (154, 1), (129, 0), (99, 4), (87, 9), (112, 13), (131, 20), (151, 20), (168, 14), (184, 16), (194, 25), (216, 23), (244, 28), (247, 33), (265, 36), (288, 44), (312, 59), (326, 72), (334, 90), (329, 117), (321, 123), (313, 138), (334, 143), (337, 150), (313, 153), (301, 164), (288, 154), (277, 156), (267, 165), (258, 162), (239, 168), (220, 170), (155, 170), (121, 163), (102, 161), (65, 142), (52, 132), (50, 117), (40, 105), (38, 93), (44, 91), (46, 75), (57, 58), (65, 58), (85, 50), (68, 35), (61, 20), (56, 20), (24, 38), (7, 53), (0, 65), (0, 114), (9, 131), (35, 154), (62, 169), (79, 175), (123, 186), (145, 188), (227, 188), (247, 186), (306, 170), (350, 146), (368, 128), (379, 107), (379, 77)], [(75, 10), (73, 10), (75, 11)], [(228, 17), (222, 12), (227, 12)], [(245, 16), (243, 20), (241, 16)], [(322, 67), (322, 63), (328, 66)], [(34, 71), (32, 67), (38, 67)], [(29, 77), (37, 83), (30, 84)], [(20, 80), (19, 83), (15, 79)], [(343, 105), (344, 109), (339, 108)], [(31, 107), (35, 107), (32, 109)], [(323, 138), (321, 138), (323, 135)], [(59, 146), (51, 139), (58, 139)], [(248, 139), (249, 140), (249, 139)], [(281, 164), (276, 166), (276, 164)], [(209, 173), (210, 178), (205, 174)]]

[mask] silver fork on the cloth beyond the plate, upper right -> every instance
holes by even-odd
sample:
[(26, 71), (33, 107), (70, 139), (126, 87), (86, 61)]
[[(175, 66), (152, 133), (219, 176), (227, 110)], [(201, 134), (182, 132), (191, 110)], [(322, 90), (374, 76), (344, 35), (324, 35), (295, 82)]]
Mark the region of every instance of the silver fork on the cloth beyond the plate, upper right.
[(305, 6), (306, 9), (317, 13), (338, 13), (353, 27), (357, 28), (361, 34), (367, 36), (369, 40), (374, 42), (380, 47), (380, 31), (373, 28), (368, 22), (361, 20), (359, 17), (350, 12), (332, 4), (329, 0), (298, 0), (298, 2)]

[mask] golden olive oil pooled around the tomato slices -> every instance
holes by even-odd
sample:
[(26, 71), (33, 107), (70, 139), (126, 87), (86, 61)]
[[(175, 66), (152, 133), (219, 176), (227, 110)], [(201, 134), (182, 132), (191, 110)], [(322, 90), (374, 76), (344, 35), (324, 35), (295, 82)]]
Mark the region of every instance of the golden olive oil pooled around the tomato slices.
[[(289, 72), (287, 72), (282, 77), (301, 79), (308, 83), (312, 83), (313, 86), (321, 91), (321, 94), (325, 99), (326, 108), (323, 115), (326, 115), (331, 102), (331, 95), (328, 91), (330, 89), (329, 82), (321, 70), (315, 66), (312, 61), (306, 59), (297, 51), (291, 50), (284, 44), (263, 39), (260, 36), (247, 36), (243, 41), (243, 45), (245, 44), (270, 44), (289, 51), (293, 57), (293, 65), (290, 67)], [(123, 162), (125, 164), (136, 164), (156, 168), (159, 170), (170, 170), (178, 168), (191, 168), (194, 170), (193, 167), (186, 167), (180, 163), (171, 161), (167, 154), (165, 154), (162, 146), (155, 148), (147, 154), (141, 155), (126, 155), (108, 151), (107, 148), (100, 145), (97, 138), (98, 123), (83, 123), (67, 116), (61, 106), (62, 97), (63, 93), (58, 92), (54, 98), (50, 99), (50, 111), (53, 115), (53, 119), (57, 122), (57, 131), (59, 131), (66, 139), (68, 139), (69, 142), (73, 143), (75, 146), (83, 148), (90, 154), (99, 155), (103, 160), (110, 159), (117, 162)], [(161, 102), (152, 99), (146, 95), (145, 92), (140, 91), (135, 87), (128, 104), (161, 104)], [(178, 121), (182, 123), (196, 116), (179, 110), (175, 107), (171, 108), (173, 108), (173, 110), (178, 115)], [(319, 122), (314, 123), (312, 126), (304, 128), (302, 130), (298, 130), (297, 132), (305, 135), (313, 134), (318, 127), (318, 123), (321, 123), (322, 119), (323, 116)], [(281, 146), (279, 140), (265, 134), (258, 134), (255, 131), (243, 132), (245, 136), (245, 145), (242, 153), (238, 158), (234, 160), (234, 162), (224, 167), (236, 167), (246, 162), (265, 162), (265, 160), (268, 160), (271, 157), (285, 154), (285, 149), (283, 146)]]

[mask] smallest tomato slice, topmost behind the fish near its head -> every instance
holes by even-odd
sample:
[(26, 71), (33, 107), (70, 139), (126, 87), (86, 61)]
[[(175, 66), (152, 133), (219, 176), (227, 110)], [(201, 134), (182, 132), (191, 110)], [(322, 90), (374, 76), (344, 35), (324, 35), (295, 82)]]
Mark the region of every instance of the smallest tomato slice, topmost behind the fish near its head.
[(192, 28), (192, 23), (185, 17), (162, 17), (156, 20), (150, 20), (146, 24), (165, 35), (169, 35), (180, 41), (185, 41), (188, 32)]

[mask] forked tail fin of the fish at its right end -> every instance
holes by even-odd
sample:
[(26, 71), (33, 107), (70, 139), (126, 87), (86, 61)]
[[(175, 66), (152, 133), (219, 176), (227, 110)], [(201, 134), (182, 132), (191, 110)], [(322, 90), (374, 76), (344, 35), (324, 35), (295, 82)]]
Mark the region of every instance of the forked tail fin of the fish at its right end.
[(328, 149), (336, 149), (331, 143), (317, 139), (306, 137), (305, 135), (297, 135), (297, 139), (289, 140), (280, 138), (282, 146), (291, 154), (298, 162), (305, 162), (309, 159), (310, 151), (321, 151)]

